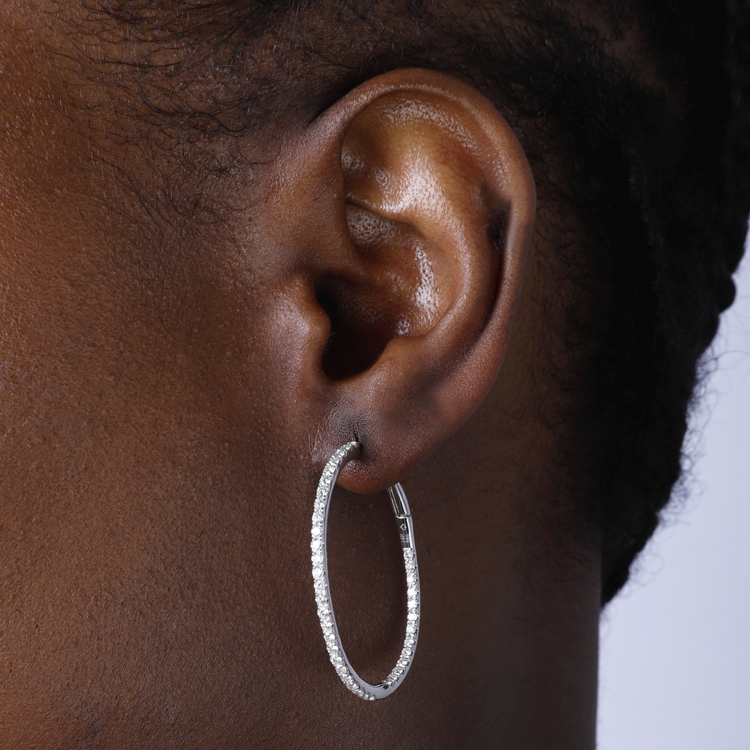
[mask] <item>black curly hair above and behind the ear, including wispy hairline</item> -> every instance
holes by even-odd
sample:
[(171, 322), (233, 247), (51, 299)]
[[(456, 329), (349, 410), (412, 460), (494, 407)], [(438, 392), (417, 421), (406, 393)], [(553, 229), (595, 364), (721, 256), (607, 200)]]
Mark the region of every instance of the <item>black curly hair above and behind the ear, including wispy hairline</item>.
[[(196, 61), (220, 49), (214, 80), (245, 80), (215, 87), (225, 98), (203, 108), (170, 109), (171, 98), (144, 93), (139, 66), (128, 86), (139, 106), (150, 98), (145, 121), (159, 137), (176, 128), (180, 144), (186, 128), (242, 136), (275, 116), (293, 80), (320, 110), (373, 74), (419, 65), (496, 102), (541, 193), (585, 227), (558, 242), (550, 266), (568, 289), (550, 366), (565, 404), (563, 494), (597, 529), (609, 601), (679, 479), (701, 358), (733, 301), (750, 211), (750, 1), (85, 1), (143, 39), (181, 39), (190, 54), (184, 69), (157, 70), (160, 92), (166, 74), (195, 79)], [(268, 34), (286, 40), (284, 53), (271, 73), (246, 68), (243, 79)], [(640, 65), (612, 52), (633, 39)]]

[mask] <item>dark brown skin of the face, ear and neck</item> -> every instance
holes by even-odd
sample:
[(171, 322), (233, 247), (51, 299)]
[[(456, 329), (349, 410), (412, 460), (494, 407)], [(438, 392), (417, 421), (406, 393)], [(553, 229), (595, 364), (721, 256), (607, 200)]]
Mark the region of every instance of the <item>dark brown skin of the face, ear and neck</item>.
[[(50, 65), (78, 58), (41, 10), (0, 7), (0, 744), (593, 748), (598, 555), (545, 500), (553, 207), (501, 113), (394, 71), (270, 121), (185, 235), (197, 284), (149, 260), (119, 181), (146, 194), (168, 154), (80, 107), (106, 84)], [(403, 634), (395, 481), (422, 574), (415, 664), (377, 703), (329, 664), (310, 571), (355, 435), (329, 534), (365, 678)]]

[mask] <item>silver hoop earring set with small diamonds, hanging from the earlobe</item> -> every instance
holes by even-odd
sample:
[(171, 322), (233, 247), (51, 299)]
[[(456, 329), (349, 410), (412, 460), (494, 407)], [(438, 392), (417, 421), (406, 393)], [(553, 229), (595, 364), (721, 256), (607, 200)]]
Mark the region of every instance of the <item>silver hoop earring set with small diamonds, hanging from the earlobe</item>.
[(338, 472), (348, 460), (353, 458), (360, 445), (356, 441), (341, 446), (326, 463), (323, 474), (318, 483), (313, 511), (313, 531), (310, 544), (313, 553), (313, 580), (315, 583), (315, 601), (318, 605), (320, 627), (326, 639), (331, 663), (334, 665), (341, 682), (347, 685), (355, 695), (364, 700), (379, 700), (392, 694), (409, 671), (414, 658), (414, 651), (419, 636), (419, 570), (417, 569), (417, 555), (414, 547), (414, 526), (412, 514), (407, 502), (407, 496), (401, 484), (389, 487), (388, 493), (393, 505), (393, 513), (399, 523), (401, 547), (404, 550), (404, 567), (407, 571), (407, 635), (401, 656), (393, 667), (389, 676), (377, 685), (365, 682), (349, 663), (341, 637), (338, 634), (336, 618), (331, 601), (331, 586), (328, 577), (328, 550), (326, 536), (328, 533), (328, 511), (331, 505), (331, 495), (336, 484)]

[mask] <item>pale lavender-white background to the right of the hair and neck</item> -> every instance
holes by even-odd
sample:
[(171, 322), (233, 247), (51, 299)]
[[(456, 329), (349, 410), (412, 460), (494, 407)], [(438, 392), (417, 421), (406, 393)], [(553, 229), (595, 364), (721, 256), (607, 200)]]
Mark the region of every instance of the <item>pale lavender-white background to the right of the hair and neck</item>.
[(599, 750), (750, 750), (750, 258), (735, 281), (688, 499), (601, 618)]

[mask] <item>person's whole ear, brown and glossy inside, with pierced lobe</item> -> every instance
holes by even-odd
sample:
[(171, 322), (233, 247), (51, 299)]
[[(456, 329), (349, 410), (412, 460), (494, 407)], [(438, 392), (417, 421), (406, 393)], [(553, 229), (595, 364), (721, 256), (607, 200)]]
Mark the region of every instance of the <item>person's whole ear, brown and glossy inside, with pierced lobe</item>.
[[(475, 89), (423, 70), (354, 89), (297, 133), (275, 190), (287, 287), (305, 317), (293, 395), (321, 465), (368, 492), (403, 478), (481, 403), (502, 365), (535, 187)], [(280, 335), (284, 335), (280, 332)]]

